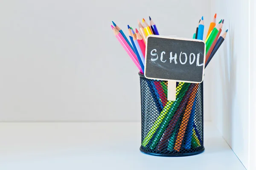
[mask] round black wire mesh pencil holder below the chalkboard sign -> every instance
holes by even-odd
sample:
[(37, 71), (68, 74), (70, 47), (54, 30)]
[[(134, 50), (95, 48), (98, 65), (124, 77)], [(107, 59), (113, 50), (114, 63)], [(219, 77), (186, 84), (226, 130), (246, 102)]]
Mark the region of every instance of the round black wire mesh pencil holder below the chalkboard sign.
[(155, 156), (191, 156), (204, 151), (203, 82), (177, 82), (167, 100), (167, 81), (140, 74), (141, 147)]

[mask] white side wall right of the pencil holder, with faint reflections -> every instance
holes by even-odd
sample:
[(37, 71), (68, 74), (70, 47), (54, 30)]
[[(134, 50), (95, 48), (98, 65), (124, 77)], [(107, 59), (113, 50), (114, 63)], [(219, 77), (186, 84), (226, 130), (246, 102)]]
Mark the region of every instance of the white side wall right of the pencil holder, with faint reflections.
[(229, 31), (205, 72), (212, 79), (209, 110), (224, 139), (248, 168), (249, 0), (212, 0), (214, 12), (225, 19), (224, 28)]

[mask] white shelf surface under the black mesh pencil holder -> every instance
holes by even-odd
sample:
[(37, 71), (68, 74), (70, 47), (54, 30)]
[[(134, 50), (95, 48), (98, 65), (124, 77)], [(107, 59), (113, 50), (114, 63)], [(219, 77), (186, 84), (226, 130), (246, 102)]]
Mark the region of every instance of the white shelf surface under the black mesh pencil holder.
[(196, 156), (141, 153), (140, 122), (0, 123), (1, 170), (245, 170), (211, 124)]

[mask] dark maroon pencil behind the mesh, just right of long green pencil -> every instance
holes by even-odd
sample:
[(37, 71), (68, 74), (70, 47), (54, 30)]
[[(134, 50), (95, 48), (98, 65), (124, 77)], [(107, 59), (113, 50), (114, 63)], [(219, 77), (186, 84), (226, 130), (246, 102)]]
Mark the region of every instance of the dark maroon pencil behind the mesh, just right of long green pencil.
[[(173, 133), (175, 125), (177, 124), (177, 122), (179, 120), (179, 117), (180, 117), (181, 113), (183, 112), (183, 109), (185, 108), (185, 106), (187, 104), (187, 101), (189, 99), (189, 96), (190, 96), (194, 86), (195, 86), (195, 84), (191, 84), (189, 86), (189, 89), (186, 91), (186, 94), (183, 97), (178, 110), (176, 111), (175, 115), (173, 116), (173, 118), (169, 122), (168, 127), (166, 128), (165, 132), (163, 133), (162, 138), (160, 139), (160, 142), (157, 145), (157, 150), (163, 150), (166, 147), (166, 145), (168, 144), (168, 139), (170, 138), (170, 136)], [(175, 141), (172, 141), (172, 142), (175, 142)]]

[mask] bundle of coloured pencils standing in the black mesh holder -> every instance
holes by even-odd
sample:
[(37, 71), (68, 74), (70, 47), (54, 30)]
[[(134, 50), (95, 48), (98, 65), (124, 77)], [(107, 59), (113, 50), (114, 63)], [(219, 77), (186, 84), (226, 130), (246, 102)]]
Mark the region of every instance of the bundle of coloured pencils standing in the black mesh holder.
[[(224, 20), (216, 24), (216, 14), (210, 23), (206, 36), (206, 60), (205, 67), (209, 64), (218, 48), (224, 42), (227, 35), (226, 30), (221, 35)], [(113, 21), (114, 35), (128, 53), (134, 64), (144, 74), (145, 65), (145, 43), (148, 35), (159, 35), (156, 24), (149, 17), (150, 25), (143, 18), (142, 23), (138, 21), (138, 29), (128, 25), (128, 38)], [(203, 40), (204, 17), (199, 20), (193, 39)], [(195, 83), (177, 82), (176, 100), (167, 100), (168, 85), (166, 81), (148, 80), (146, 86), (154, 103), (155, 116), (149, 118), (150, 124), (143, 135), (142, 147), (149, 148), (151, 152), (179, 153), (184, 150), (195, 150), (203, 146), (203, 136), (199, 132), (196, 113), (202, 109), (197, 105), (202, 96), (202, 85)], [(150, 111), (148, 111), (150, 112)]]

